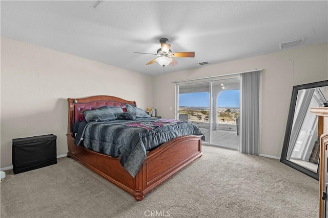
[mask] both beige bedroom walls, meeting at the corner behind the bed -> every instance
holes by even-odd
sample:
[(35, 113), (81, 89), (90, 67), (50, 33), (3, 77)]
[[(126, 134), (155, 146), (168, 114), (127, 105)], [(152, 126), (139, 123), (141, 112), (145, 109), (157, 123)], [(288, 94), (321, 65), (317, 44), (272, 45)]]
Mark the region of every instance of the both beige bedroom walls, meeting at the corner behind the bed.
[(13, 138), (55, 134), (57, 155), (66, 154), (67, 98), (114, 95), (174, 118), (173, 81), (254, 69), (263, 69), (260, 153), (280, 157), (292, 87), (328, 80), (327, 46), (318, 44), (150, 77), (2, 37), (1, 168), (12, 166)]

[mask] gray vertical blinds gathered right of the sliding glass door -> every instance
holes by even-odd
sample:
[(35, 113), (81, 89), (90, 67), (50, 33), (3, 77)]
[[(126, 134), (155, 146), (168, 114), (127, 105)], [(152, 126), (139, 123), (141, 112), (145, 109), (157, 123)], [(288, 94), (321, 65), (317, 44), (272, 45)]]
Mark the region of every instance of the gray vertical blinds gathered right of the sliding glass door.
[(240, 152), (259, 154), (260, 71), (240, 74)]

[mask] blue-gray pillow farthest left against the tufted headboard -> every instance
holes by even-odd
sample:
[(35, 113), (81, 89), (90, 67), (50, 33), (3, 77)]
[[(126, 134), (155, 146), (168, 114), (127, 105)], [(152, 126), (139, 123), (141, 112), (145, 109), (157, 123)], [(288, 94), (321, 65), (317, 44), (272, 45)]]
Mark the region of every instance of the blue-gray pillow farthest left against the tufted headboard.
[(116, 119), (116, 114), (122, 113), (123, 110), (120, 107), (100, 107), (95, 110), (86, 110), (83, 111), (83, 114), (87, 122), (99, 122), (99, 121), (108, 121)]

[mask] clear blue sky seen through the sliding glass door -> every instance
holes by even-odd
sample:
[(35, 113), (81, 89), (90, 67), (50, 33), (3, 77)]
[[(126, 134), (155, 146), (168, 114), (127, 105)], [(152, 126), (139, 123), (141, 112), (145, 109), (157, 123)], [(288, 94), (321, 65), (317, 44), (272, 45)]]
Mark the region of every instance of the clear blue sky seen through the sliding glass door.
[[(209, 95), (209, 92), (179, 94), (179, 106), (209, 107)], [(221, 91), (217, 98), (217, 107), (239, 108), (239, 90)]]

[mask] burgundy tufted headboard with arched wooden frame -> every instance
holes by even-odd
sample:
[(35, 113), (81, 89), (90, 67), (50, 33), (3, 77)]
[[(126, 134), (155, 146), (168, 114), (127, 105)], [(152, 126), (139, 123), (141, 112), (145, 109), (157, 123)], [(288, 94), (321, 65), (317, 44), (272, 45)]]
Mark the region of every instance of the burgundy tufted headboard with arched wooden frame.
[(68, 134), (73, 135), (73, 125), (83, 116), (83, 111), (93, 110), (99, 107), (121, 107), (125, 108), (125, 103), (137, 106), (133, 101), (127, 101), (109, 95), (97, 95), (84, 99), (67, 99), (68, 101)]

